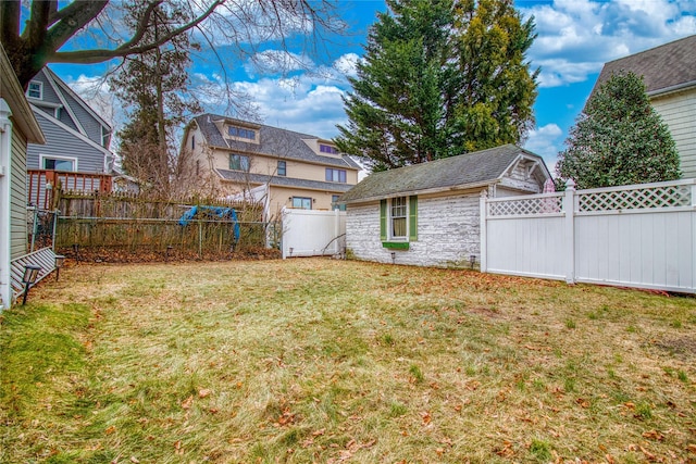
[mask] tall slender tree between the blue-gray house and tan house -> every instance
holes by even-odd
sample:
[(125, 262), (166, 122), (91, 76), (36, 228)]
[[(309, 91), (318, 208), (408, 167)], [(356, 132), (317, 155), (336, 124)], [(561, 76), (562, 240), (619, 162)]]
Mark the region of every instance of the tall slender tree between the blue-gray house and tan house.
[[(127, 5), (133, 25), (146, 11), (144, 4), (134, 1)], [(152, 27), (146, 32), (148, 40), (170, 34), (173, 24), (186, 21), (179, 8), (158, 7), (152, 13)], [(178, 146), (174, 130), (183, 125), (191, 113), (201, 106), (188, 93), (187, 67), (189, 53), (196, 45), (187, 34), (177, 35), (165, 46), (126, 59), (117, 74), (111, 78), (111, 87), (123, 102), (129, 121), (119, 131), (120, 154), (124, 171), (144, 181), (150, 188), (166, 195), (170, 180), (182, 170), (177, 164)]]

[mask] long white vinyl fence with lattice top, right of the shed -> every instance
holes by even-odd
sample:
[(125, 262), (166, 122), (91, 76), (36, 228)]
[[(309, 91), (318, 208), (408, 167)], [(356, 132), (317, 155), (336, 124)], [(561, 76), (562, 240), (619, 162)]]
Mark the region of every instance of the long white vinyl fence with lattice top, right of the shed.
[(483, 197), (481, 271), (696, 293), (696, 179)]

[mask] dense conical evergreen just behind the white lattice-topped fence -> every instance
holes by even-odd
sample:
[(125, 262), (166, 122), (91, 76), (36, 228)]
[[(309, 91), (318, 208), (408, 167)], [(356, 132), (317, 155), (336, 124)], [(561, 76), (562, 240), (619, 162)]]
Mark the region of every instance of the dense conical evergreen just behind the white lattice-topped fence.
[(592, 95), (559, 153), (557, 174), (577, 188), (678, 179), (679, 153), (643, 78), (613, 74)]

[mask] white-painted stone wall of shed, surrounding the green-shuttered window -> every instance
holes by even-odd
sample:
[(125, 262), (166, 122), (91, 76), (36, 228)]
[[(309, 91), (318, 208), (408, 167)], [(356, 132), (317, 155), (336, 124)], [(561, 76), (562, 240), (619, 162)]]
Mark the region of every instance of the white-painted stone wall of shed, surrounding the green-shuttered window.
[(478, 193), (418, 199), (418, 240), (409, 250), (390, 250), (380, 240), (380, 203), (349, 205), (346, 248), (349, 256), (364, 261), (419, 266), (469, 266), (471, 254), (478, 263)]

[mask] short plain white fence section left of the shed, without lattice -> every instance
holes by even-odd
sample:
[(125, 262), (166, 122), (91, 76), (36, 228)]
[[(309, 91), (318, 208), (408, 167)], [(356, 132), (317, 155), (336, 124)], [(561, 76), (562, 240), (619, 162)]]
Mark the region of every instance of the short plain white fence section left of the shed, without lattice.
[(283, 259), (343, 254), (346, 212), (283, 209)]

